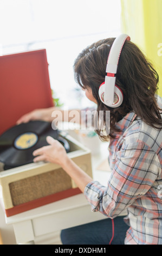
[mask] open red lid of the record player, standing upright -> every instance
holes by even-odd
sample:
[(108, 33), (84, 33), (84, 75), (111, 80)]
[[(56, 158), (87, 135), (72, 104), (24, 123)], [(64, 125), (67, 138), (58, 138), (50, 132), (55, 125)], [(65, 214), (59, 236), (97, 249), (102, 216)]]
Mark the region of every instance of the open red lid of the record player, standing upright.
[(0, 57), (0, 135), (23, 114), (53, 105), (45, 49)]

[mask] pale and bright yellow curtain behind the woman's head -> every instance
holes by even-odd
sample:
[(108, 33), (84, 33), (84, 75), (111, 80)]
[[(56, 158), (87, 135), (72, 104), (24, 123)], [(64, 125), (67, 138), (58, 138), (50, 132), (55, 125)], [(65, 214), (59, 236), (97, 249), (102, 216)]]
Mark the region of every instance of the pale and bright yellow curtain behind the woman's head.
[(159, 74), (162, 96), (162, 0), (121, 0), (121, 29), (131, 36)]

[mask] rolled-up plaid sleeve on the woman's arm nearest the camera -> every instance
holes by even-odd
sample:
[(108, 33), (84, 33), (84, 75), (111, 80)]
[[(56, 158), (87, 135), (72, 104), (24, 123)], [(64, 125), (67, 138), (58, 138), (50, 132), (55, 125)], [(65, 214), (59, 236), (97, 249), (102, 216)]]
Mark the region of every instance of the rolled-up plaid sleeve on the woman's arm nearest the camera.
[(116, 164), (107, 187), (90, 182), (85, 196), (92, 211), (114, 218), (150, 190), (161, 172), (157, 154), (145, 143), (128, 143), (116, 152)]

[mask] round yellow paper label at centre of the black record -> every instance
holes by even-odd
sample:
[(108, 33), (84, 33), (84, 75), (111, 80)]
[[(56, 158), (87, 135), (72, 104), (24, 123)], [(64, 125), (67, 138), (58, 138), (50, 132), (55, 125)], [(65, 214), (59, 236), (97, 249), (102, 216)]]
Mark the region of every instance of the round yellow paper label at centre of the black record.
[(16, 149), (28, 149), (33, 147), (38, 141), (38, 136), (33, 132), (25, 132), (14, 141)]

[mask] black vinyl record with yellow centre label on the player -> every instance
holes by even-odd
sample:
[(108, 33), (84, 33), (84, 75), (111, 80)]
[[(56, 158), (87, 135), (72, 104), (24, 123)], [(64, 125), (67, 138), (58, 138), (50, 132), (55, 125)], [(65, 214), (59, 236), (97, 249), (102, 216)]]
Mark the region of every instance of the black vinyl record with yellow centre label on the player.
[(0, 136), (0, 162), (8, 168), (14, 168), (33, 162), (33, 151), (48, 145), (46, 137), (58, 139), (69, 152), (66, 139), (59, 136), (59, 131), (45, 121), (30, 121), (11, 127)]

